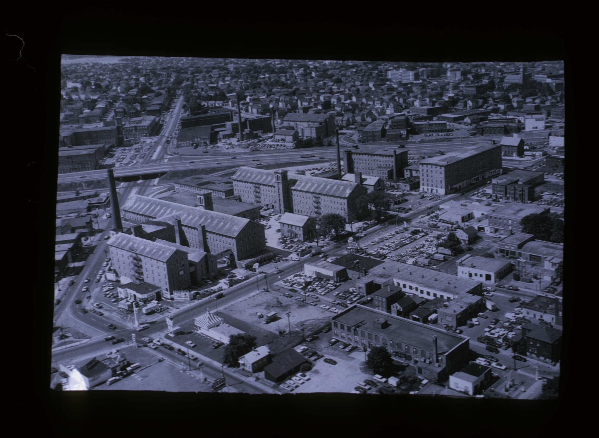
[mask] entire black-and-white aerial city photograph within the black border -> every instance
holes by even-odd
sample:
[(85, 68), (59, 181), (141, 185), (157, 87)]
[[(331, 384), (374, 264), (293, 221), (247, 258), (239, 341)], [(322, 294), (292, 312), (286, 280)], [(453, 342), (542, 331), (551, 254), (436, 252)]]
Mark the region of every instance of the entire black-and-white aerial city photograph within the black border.
[(564, 83), (63, 54), (51, 389), (557, 399)]

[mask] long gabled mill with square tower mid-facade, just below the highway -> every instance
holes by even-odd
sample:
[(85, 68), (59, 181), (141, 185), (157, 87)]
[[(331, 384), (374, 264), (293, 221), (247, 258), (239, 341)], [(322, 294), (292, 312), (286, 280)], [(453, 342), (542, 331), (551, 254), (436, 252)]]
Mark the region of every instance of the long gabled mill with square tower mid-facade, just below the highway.
[(337, 213), (348, 221), (359, 217), (361, 212), (356, 210), (355, 200), (368, 193), (360, 184), (289, 175), (283, 169), (273, 172), (241, 168), (231, 179), (235, 194), (243, 202), (310, 217)]

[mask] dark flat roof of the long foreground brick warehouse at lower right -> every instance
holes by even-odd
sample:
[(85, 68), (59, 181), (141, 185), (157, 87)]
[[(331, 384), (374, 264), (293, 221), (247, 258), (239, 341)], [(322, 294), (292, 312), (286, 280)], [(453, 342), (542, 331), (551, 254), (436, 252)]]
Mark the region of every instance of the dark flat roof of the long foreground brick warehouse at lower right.
[[(374, 326), (374, 321), (383, 318), (388, 322), (388, 327), (377, 328)], [(407, 343), (410, 346), (432, 351), (432, 336), (437, 336), (437, 351), (438, 354), (444, 354), (455, 348), (463, 342), (468, 342), (456, 334), (450, 334), (444, 330), (438, 330), (425, 324), (416, 323), (406, 318), (394, 317), (392, 315), (382, 314), (374, 309), (365, 309), (354, 306), (339, 315), (332, 317), (333, 321), (346, 324), (346, 326), (361, 325), (364, 330), (371, 333), (379, 334), (387, 339), (397, 340), (398, 342)]]

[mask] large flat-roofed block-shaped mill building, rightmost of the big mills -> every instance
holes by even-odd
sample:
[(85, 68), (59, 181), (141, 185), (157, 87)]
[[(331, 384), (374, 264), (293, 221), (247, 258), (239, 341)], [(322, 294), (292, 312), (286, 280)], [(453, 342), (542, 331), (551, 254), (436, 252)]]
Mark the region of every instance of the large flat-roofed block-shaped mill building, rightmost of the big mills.
[(449, 194), (501, 175), (501, 145), (473, 145), (419, 163), (420, 191)]

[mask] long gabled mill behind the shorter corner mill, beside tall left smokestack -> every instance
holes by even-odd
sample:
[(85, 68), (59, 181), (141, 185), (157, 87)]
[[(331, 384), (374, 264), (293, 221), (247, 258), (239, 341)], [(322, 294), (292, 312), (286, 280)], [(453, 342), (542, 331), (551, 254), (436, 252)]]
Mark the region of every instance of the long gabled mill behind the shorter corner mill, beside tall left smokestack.
[(229, 258), (229, 263), (252, 257), (266, 248), (264, 225), (252, 220), (134, 195), (122, 207), (123, 219), (139, 223), (158, 219), (175, 226), (179, 244)]

